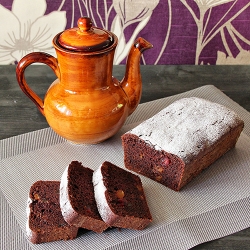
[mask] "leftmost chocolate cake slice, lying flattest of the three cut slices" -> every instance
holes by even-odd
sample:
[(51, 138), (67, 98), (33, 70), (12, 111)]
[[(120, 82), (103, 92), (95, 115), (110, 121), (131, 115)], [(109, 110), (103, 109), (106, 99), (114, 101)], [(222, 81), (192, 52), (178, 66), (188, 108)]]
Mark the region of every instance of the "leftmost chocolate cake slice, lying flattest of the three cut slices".
[(78, 228), (70, 226), (62, 217), (59, 187), (59, 181), (37, 181), (30, 188), (26, 231), (34, 244), (70, 240), (77, 236)]

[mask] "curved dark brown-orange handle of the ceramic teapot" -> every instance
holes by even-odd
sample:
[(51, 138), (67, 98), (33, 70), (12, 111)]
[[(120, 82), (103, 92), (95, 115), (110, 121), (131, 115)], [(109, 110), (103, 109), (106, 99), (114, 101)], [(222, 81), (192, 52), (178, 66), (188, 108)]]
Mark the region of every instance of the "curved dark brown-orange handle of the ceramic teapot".
[(36, 104), (39, 111), (44, 115), (44, 102), (43, 100), (29, 87), (26, 82), (24, 71), (32, 63), (47, 64), (60, 79), (60, 69), (57, 59), (44, 52), (33, 52), (24, 56), (17, 64), (16, 77), (22, 91)]

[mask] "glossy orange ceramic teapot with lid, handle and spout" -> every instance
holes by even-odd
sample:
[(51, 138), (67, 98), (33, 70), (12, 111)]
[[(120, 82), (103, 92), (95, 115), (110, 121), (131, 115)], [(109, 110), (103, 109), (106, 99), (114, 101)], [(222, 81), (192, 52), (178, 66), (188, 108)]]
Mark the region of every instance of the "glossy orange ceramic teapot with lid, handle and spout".
[[(138, 38), (131, 47), (125, 77), (112, 77), (117, 37), (93, 27), (82, 17), (78, 27), (65, 30), (53, 39), (57, 58), (33, 52), (16, 68), (23, 92), (37, 105), (50, 127), (74, 143), (95, 144), (113, 136), (140, 102), (142, 83), (140, 57), (152, 45)], [(42, 100), (28, 86), (24, 71), (32, 63), (45, 63), (57, 79)]]

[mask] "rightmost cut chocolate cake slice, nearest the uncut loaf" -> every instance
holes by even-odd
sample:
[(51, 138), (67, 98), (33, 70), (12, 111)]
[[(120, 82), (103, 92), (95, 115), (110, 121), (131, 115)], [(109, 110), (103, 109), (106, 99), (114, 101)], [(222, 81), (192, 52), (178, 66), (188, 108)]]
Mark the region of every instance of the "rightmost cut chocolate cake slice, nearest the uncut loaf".
[(140, 178), (110, 162), (93, 174), (97, 207), (111, 227), (144, 229), (151, 221)]

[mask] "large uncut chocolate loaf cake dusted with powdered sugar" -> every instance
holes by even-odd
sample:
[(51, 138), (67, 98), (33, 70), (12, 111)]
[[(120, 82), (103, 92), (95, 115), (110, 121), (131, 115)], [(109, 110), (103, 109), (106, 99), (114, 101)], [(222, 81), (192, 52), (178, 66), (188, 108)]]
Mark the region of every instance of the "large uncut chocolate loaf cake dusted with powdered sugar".
[(180, 99), (122, 135), (125, 167), (179, 191), (233, 148), (243, 127), (220, 104)]

